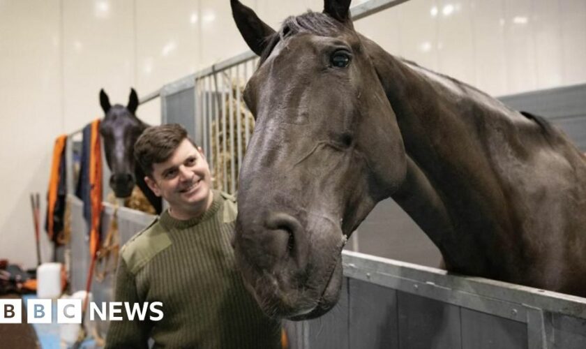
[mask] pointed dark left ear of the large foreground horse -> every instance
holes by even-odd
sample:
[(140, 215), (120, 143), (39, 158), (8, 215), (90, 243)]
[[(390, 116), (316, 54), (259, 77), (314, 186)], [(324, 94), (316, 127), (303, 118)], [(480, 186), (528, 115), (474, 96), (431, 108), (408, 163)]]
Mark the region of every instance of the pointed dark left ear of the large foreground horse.
[(268, 43), (266, 38), (273, 35), (275, 31), (262, 22), (255, 11), (244, 6), (240, 1), (230, 0), (230, 5), (232, 6), (232, 17), (234, 17), (236, 27), (238, 27), (244, 41), (250, 50), (260, 56)]

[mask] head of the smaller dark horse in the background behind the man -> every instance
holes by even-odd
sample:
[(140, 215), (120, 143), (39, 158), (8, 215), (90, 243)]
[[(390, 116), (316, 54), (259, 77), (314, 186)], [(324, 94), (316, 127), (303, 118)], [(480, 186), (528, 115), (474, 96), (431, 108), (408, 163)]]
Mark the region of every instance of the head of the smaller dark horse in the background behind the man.
[(136, 184), (134, 144), (146, 125), (136, 116), (138, 97), (130, 89), (128, 105), (110, 105), (110, 99), (104, 90), (100, 90), (100, 105), (105, 117), (100, 123), (100, 134), (104, 140), (106, 161), (112, 176), (110, 187), (117, 198), (127, 198)]

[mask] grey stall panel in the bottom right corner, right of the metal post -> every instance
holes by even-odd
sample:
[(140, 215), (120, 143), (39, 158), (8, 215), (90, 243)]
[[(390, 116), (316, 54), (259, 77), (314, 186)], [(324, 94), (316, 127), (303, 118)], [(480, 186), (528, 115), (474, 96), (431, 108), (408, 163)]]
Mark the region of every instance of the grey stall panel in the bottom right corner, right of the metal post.
[(553, 314), (554, 349), (586, 348), (586, 320)]

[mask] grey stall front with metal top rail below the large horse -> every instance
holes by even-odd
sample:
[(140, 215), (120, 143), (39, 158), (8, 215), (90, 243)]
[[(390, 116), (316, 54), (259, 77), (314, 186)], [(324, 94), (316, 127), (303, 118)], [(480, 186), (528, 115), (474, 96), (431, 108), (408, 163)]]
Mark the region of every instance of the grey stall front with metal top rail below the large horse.
[(586, 299), (343, 253), (340, 303), (296, 348), (583, 349)]

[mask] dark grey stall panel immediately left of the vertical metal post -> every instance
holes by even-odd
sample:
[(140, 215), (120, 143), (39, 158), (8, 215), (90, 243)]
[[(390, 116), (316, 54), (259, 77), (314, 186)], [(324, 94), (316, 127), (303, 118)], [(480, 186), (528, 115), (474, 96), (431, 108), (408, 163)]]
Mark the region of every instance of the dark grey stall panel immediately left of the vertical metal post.
[(524, 322), (465, 308), (460, 310), (460, 316), (462, 349), (527, 349), (527, 324)]

